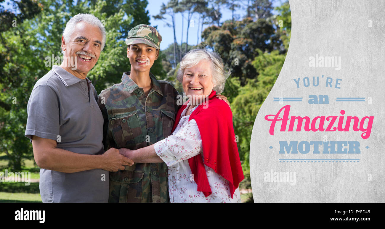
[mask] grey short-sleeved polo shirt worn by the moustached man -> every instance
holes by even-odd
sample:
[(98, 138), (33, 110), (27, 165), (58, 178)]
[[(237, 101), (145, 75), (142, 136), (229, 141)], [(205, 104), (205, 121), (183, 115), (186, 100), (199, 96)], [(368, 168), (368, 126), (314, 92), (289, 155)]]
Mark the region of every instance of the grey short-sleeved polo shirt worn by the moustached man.
[[(25, 137), (59, 141), (57, 148), (103, 154), (103, 116), (91, 81), (54, 65), (32, 89)], [(102, 169), (64, 173), (40, 169), (43, 202), (108, 202), (109, 176)]]

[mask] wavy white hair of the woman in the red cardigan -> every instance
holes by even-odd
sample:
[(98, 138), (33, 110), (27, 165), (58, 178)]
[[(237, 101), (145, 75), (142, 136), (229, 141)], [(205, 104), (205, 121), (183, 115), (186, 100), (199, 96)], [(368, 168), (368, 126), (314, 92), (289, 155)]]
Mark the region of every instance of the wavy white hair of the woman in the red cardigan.
[(213, 77), (211, 81), (215, 85), (213, 90), (216, 91), (217, 94), (222, 93), (226, 79), (231, 74), (231, 70), (224, 70), (223, 60), (219, 53), (208, 52), (204, 48), (190, 50), (186, 53), (186, 55), (184, 55), (179, 64), (179, 70), (176, 79), (182, 83), (184, 69), (197, 65), (201, 60), (208, 60), (210, 62), (210, 70)]

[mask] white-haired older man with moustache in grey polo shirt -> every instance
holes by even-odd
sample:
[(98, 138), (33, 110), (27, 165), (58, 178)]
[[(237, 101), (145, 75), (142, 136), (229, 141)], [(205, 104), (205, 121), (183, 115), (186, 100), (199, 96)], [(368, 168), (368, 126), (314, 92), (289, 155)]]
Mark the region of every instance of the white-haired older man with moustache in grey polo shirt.
[(107, 202), (108, 171), (134, 163), (115, 148), (103, 149), (103, 116), (86, 76), (104, 45), (99, 19), (74, 16), (62, 36), (64, 61), (33, 87), (25, 136), (41, 168), (43, 202)]

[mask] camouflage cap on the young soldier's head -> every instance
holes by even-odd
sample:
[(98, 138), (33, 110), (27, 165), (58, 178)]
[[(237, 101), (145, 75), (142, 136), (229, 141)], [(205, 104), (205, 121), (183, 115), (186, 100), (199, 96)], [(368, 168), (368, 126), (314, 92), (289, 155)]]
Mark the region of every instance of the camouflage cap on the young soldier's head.
[(145, 43), (146, 45), (156, 49), (161, 49), (161, 41), (162, 36), (158, 33), (156, 28), (149, 25), (140, 24), (128, 32), (126, 45)]

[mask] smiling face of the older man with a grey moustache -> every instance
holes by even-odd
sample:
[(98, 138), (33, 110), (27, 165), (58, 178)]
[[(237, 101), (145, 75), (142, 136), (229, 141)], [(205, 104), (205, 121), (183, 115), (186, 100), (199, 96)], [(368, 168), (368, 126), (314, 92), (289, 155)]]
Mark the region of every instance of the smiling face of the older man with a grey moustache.
[[(87, 74), (99, 59), (102, 48), (102, 32), (86, 22), (76, 24), (69, 41), (62, 38), (64, 57), (74, 57), (68, 67), (80, 74)], [(69, 61), (69, 60), (67, 60)], [(75, 68), (73, 68), (75, 64)]]

